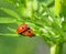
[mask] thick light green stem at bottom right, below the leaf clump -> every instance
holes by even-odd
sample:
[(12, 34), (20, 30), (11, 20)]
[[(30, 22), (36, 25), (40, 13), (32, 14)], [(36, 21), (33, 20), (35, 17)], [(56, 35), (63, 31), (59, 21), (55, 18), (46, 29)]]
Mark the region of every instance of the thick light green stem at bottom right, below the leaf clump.
[(51, 46), (51, 54), (62, 54), (63, 51), (63, 44), (54, 44)]

